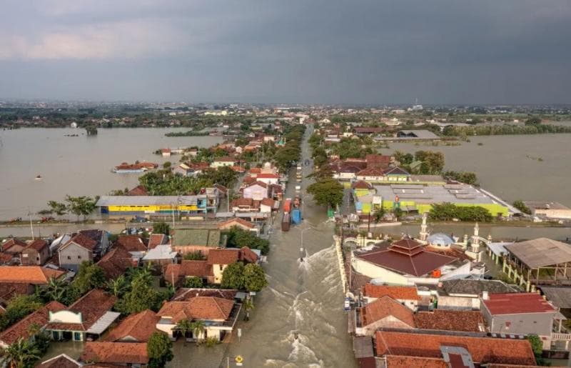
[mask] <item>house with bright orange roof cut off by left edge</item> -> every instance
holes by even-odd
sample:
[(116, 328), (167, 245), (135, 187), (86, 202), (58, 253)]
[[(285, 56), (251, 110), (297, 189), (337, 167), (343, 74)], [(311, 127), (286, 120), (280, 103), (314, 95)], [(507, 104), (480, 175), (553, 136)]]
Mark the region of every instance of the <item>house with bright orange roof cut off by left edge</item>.
[(59, 269), (39, 266), (0, 267), (0, 301), (8, 302), (15, 295), (34, 294), (37, 286), (43, 287), (49, 279), (65, 274)]

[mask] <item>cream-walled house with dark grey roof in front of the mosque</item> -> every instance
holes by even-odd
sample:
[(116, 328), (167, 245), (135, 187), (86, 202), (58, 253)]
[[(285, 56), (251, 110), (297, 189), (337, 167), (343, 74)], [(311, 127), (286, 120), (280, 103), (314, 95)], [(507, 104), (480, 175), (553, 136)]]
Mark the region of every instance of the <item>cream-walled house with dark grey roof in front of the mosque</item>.
[(441, 282), (436, 290), (438, 309), (480, 309), (483, 294), (519, 292), (500, 280), (455, 279)]

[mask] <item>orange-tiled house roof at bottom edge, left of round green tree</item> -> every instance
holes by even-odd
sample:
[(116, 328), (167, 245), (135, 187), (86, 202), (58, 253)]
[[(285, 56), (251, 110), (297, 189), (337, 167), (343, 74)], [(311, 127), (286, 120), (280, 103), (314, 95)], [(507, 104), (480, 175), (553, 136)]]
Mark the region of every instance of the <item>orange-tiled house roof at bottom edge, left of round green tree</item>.
[(141, 367), (148, 364), (147, 343), (86, 342), (79, 360), (85, 363), (96, 362), (104, 367)]

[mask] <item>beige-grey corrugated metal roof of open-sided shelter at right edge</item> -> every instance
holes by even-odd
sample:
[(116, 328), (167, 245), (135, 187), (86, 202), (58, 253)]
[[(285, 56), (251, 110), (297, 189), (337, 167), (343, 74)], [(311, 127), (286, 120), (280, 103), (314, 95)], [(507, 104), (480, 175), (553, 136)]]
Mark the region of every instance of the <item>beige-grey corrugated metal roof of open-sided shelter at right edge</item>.
[(571, 262), (571, 245), (553, 239), (527, 240), (507, 245), (505, 249), (532, 269)]

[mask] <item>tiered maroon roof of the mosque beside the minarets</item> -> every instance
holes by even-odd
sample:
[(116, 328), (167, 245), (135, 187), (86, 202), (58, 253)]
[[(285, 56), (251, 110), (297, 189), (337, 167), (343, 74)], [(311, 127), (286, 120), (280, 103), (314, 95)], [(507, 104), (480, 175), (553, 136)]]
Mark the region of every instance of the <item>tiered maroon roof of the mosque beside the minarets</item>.
[(420, 243), (412, 239), (402, 239), (387, 249), (373, 249), (370, 252), (358, 254), (357, 257), (380, 267), (417, 277), (430, 274), (435, 269), (457, 260), (442, 254), (427, 252)]

